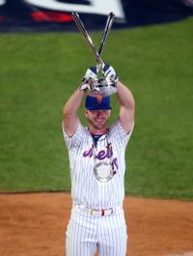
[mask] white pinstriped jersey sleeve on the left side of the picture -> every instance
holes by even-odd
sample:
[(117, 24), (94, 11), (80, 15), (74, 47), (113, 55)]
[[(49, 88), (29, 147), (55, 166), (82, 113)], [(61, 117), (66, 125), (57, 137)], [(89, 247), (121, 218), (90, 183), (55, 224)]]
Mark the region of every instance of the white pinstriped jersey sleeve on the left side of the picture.
[(77, 148), (79, 147), (80, 143), (83, 141), (85, 137), (85, 128), (79, 123), (78, 128), (76, 129), (75, 133), (69, 137), (65, 131), (64, 126), (62, 126), (63, 135), (65, 139), (65, 143), (70, 150), (70, 148)]

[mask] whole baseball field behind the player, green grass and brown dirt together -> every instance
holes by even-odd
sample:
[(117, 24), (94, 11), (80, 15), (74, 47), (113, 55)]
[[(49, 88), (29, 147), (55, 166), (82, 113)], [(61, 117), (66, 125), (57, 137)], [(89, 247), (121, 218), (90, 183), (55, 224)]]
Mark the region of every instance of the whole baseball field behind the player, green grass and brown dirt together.
[[(102, 55), (136, 100), (125, 156), (129, 256), (193, 255), (192, 27), (188, 18), (113, 30)], [(91, 35), (98, 45), (101, 31)], [(62, 110), (95, 57), (78, 33), (26, 33), (0, 34), (0, 60), (0, 255), (64, 255)]]

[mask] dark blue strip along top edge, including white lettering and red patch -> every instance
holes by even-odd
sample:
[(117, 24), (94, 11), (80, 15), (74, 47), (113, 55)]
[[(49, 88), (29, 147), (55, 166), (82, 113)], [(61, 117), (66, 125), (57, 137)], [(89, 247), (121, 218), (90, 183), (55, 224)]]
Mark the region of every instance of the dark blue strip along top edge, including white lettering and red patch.
[(0, 32), (76, 31), (71, 12), (101, 29), (109, 12), (114, 28), (172, 22), (193, 14), (193, 0), (0, 0)]

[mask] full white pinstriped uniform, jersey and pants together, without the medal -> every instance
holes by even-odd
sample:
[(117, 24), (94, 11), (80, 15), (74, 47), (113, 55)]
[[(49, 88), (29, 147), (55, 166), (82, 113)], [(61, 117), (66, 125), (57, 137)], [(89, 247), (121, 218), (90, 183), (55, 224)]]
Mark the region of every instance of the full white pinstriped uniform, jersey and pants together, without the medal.
[[(71, 197), (73, 207), (67, 230), (67, 256), (124, 256), (126, 226), (124, 220), (124, 152), (132, 131), (124, 132), (120, 120), (102, 135), (94, 146), (88, 128), (78, 125), (71, 138), (63, 129), (69, 150)], [(113, 176), (103, 183), (96, 179), (98, 162), (112, 162)], [(90, 210), (113, 210), (93, 215)], [(107, 212), (108, 213), (108, 212)]]

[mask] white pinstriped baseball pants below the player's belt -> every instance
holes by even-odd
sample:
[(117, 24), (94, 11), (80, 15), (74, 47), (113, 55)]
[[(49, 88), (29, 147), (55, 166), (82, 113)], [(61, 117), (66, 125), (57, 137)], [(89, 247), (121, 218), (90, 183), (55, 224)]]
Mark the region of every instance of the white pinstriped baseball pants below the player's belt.
[(73, 208), (66, 239), (66, 256), (126, 255), (126, 225), (124, 210), (104, 216), (82, 213)]

